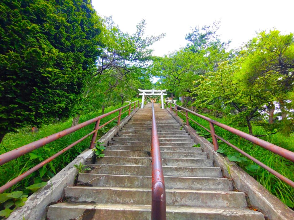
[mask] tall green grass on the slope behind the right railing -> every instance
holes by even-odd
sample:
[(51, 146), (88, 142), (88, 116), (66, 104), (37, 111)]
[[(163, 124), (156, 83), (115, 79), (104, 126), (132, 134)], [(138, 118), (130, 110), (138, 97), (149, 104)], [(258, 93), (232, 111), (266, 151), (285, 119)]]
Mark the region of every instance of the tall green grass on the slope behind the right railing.
[[(219, 121), (220, 123), (229, 125), (234, 127), (240, 131), (248, 133), (247, 128), (241, 128), (238, 126), (232, 125), (231, 121), (228, 118), (214, 118), (208, 114), (203, 114), (211, 119)], [(178, 114), (182, 119), (186, 120), (182, 114)], [(194, 121), (198, 122), (199, 124), (203, 125), (204, 127), (209, 129), (209, 122), (201, 119), (191, 113), (189, 113), (189, 117)], [(205, 131), (203, 128), (198, 126), (197, 124), (189, 121), (190, 126), (192, 126), (196, 131), (199, 132), (199, 135), (204, 136), (208, 141), (212, 142), (211, 134)], [(253, 156), (257, 160), (261, 161), (265, 165), (271, 167), (272, 169), (276, 170), (280, 174), (284, 175), (285, 177), (289, 178), (290, 180), (294, 180), (294, 163), (290, 160), (287, 160), (280, 155), (276, 155), (273, 152), (266, 150), (258, 145), (251, 143), (243, 138), (240, 138), (237, 135), (230, 133), (229, 131), (224, 130), (218, 126), (215, 126), (216, 134), (224, 138), (226, 141), (229, 141), (233, 145), (237, 146), (241, 150), (245, 151), (249, 155)], [(253, 133), (257, 135), (265, 134), (266, 131), (260, 126), (253, 127)], [(276, 133), (274, 135), (262, 137), (263, 140), (278, 145), (282, 148), (285, 148), (290, 151), (294, 151), (294, 136), (291, 135), (290, 137), (285, 137), (281, 133)], [(226, 150), (225, 154), (234, 154), (238, 153), (235, 149), (231, 148), (227, 144), (223, 143), (222, 141), (218, 141), (219, 148)], [(283, 203), (288, 205), (289, 207), (294, 207), (294, 189), (293, 187), (289, 186), (285, 182), (281, 181), (267, 170), (263, 169), (262, 167), (258, 166), (256, 170), (250, 169), (249, 165), (256, 165), (253, 161), (242, 161), (236, 162), (240, 167), (242, 167), (248, 174), (255, 178), (261, 185), (263, 185), (266, 189), (268, 189), (273, 195), (278, 197)], [(249, 169), (248, 169), (249, 168)]]

